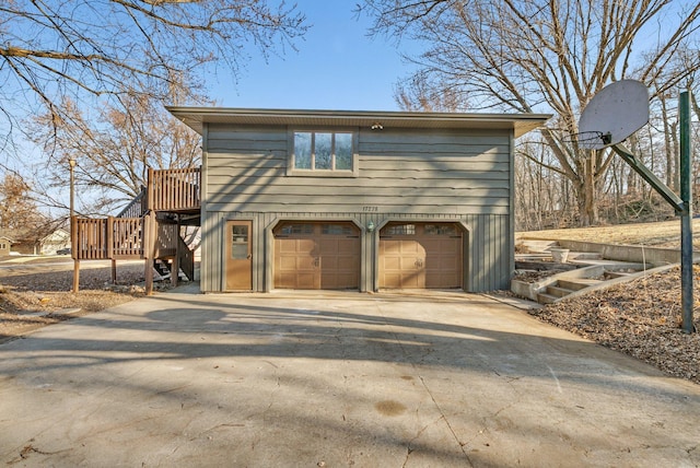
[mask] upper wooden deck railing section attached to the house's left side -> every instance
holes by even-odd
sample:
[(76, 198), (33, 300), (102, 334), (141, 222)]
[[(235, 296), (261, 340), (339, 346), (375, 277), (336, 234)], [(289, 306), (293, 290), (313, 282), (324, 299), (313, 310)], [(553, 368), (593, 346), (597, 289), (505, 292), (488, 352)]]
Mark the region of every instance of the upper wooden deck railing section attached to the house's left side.
[(149, 168), (148, 209), (155, 211), (198, 210), (201, 206), (199, 167), (153, 171)]

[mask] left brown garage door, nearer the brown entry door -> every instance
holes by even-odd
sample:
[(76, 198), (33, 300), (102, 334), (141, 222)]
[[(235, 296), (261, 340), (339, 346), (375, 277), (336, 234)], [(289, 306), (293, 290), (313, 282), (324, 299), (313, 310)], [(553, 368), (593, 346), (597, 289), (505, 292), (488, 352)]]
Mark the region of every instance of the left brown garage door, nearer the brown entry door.
[(360, 230), (352, 223), (283, 223), (275, 233), (275, 288), (360, 286)]

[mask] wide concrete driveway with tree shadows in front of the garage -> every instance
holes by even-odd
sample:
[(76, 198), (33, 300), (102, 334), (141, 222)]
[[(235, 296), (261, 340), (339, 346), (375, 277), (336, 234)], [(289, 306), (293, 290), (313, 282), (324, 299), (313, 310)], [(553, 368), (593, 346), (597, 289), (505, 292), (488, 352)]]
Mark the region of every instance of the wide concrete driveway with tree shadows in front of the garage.
[(180, 290), (0, 344), (8, 466), (699, 466), (698, 421), (699, 386), (479, 295)]

